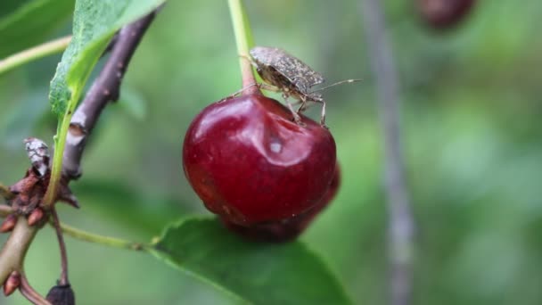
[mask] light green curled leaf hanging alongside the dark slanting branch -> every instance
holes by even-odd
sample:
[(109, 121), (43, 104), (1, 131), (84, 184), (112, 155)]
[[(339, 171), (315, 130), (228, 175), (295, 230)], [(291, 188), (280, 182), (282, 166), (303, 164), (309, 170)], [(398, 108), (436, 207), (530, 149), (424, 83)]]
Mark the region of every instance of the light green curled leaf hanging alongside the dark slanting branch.
[(68, 109), (75, 109), (86, 79), (115, 32), (164, 1), (76, 1), (73, 38), (51, 82), (49, 100), (54, 113), (61, 117)]

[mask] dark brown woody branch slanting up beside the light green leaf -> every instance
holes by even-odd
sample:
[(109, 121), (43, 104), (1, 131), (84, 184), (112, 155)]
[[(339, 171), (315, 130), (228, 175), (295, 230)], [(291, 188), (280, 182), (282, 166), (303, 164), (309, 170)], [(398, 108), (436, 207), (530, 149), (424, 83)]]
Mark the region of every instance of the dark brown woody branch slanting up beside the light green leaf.
[(155, 15), (156, 11), (151, 12), (139, 21), (120, 29), (110, 58), (71, 119), (62, 157), (64, 177), (77, 179), (81, 176), (81, 157), (85, 150), (86, 140), (105, 105), (119, 99), (120, 83), (127, 65)]

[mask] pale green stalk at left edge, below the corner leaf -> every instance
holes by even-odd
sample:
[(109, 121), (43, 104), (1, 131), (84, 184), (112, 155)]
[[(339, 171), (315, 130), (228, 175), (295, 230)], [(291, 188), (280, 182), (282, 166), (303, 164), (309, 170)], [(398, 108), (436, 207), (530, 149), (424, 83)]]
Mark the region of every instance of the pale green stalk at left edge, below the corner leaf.
[(0, 61), (0, 75), (23, 64), (36, 61), (48, 55), (61, 53), (70, 44), (71, 36), (58, 38), (43, 45), (36, 45)]

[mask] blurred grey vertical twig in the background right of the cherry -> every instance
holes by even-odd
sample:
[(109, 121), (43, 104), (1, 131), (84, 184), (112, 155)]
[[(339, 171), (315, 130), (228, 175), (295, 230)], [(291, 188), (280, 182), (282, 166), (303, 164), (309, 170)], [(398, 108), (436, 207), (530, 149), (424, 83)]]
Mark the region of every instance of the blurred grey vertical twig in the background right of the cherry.
[(390, 234), (390, 303), (411, 303), (415, 223), (406, 190), (399, 130), (398, 72), (393, 62), (381, 0), (363, 0), (365, 35), (380, 98), (385, 185)]

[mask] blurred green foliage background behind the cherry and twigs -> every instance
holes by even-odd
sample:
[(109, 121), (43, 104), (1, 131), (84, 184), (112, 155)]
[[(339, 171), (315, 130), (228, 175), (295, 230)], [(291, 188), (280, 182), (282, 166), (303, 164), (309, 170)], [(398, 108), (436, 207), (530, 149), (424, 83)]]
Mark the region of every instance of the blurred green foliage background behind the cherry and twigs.
[[(414, 1), (387, 1), (402, 81), (407, 183), (418, 225), (415, 304), (542, 302), (542, 2), (480, 1), (456, 29), (428, 29)], [(246, 1), (258, 45), (280, 46), (328, 81), (342, 165), (333, 204), (301, 239), (321, 253), (357, 304), (387, 300), (382, 132), (359, 1)], [(70, 33), (66, 19), (43, 41)], [(0, 44), (10, 41), (0, 37)], [(47, 102), (60, 55), (0, 76), (0, 180), (29, 167), (22, 139), (52, 143)], [(145, 241), (168, 221), (209, 214), (186, 182), (181, 147), (191, 118), (240, 88), (226, 1), (170, 1), (105, 111), (73, 183), (81, 210), (63, 221)], [(310, 112), (317, 118), (318, 107)], [(5, 236), (0, 237), (3, 242)], [(149, 255), (67, 240), (78, 304), (229, 304), (234, 300)], [(50, 228), (26, 264), (41, 293), (59, 272)], [(258, 270), (254, 270), (258, 272)], [(18, 293), (2, 304), (26, 304)]]

